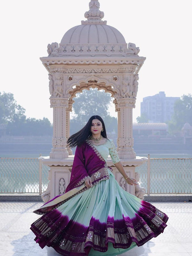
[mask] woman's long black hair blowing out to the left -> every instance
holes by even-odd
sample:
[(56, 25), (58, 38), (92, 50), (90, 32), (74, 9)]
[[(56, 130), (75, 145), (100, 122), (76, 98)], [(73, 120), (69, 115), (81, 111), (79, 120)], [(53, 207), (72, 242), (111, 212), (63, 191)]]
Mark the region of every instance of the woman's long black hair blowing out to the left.
[(103, 132), (101, 132), (101, 135), (107, 139), (103, 119), (100, 116), (91, 116), (87, 124), (85, 124), (85, 126), (79, 132), (76, 132), (68, 138), (67, 144), (70, 148), (82, 145), (83, 142), (91, 135), (91, 124), (93, 119), (98, 119), (102, 123)]

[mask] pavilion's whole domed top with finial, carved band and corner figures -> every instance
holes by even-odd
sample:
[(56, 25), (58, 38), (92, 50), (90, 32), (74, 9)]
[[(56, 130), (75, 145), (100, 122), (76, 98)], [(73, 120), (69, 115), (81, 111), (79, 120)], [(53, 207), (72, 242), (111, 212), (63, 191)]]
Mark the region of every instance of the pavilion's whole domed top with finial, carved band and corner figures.
[(139, 57), (139, 47), (129, 43), (128, 47), (124, 36), (114, 27), (108, 26), (102, 20), (104, 13), (99, 10), (98, 0), (91, 0), (89, 11), (84, 16), (81, 25), (70, 28), (63, 36), (60, 45), (48, 44), (49, 56), (59, 57)]

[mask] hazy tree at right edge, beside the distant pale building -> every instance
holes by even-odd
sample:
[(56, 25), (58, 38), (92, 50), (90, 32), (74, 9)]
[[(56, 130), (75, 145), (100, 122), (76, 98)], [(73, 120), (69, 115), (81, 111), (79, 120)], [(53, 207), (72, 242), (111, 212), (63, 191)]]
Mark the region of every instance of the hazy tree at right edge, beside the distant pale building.
[(181, 131), (183, 125), (189, 123), (192, 125), (192, 95), (183, 95), (180, 100), (174, 103), (174, 114), (171, 121), (168, 122), (169, 132), (177, 134)]

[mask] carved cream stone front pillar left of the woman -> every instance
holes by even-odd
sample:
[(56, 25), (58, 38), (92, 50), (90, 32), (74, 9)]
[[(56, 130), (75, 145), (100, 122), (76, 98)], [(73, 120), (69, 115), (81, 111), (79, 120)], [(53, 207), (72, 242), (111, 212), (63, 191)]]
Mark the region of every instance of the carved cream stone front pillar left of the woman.
[(66, 108), (68, 98), (51, 97), (51, 108), (53, 108), (53, 138), (50, 158), (68, 158), (66, 148)]

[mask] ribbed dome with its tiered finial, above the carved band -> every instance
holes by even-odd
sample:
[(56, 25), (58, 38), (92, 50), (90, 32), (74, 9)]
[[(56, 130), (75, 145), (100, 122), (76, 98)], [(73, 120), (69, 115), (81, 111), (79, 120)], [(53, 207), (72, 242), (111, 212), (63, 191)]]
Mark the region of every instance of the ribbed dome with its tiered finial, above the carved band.
[(124, 36), (116, 29), (101, 20), (104, 13), (99, 10), (98, 0), (91, 0), (89, 11), (81, 24), (70, 28), (61, 40), (61, 44), (126, 44)]

